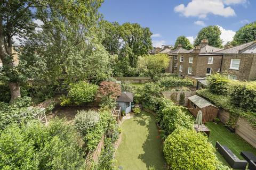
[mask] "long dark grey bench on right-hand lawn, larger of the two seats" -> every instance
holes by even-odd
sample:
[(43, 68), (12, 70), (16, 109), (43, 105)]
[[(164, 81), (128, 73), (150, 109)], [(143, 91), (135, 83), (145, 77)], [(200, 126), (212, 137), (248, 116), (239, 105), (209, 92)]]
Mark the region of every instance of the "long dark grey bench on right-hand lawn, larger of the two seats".
[(247, 165), (246, 160), (240, 160), (227, 146), (220, 145), (216, 142), (215, 148), (220, 152), (220, 154), (225, 158), (231, 168), (234, 169), (245, 169)]

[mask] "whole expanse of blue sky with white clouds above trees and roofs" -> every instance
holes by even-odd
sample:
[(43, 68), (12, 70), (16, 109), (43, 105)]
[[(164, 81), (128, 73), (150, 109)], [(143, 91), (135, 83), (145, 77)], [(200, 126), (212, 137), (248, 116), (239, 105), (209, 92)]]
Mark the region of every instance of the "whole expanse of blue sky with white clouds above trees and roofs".
[(178, 36), (190, 41), (207, 25), (219, 25), (224, 44), (244, 24), (256, 21), (256, 0), (105, 0), (104, 19), (139, 23), (153, 32), (154, 46), (174, 45)]

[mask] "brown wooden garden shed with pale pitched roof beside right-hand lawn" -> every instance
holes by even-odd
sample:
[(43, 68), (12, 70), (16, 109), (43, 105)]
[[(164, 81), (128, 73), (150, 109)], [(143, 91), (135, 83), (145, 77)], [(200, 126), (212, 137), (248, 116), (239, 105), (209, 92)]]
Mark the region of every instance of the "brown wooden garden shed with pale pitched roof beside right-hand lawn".
[(202, 111), (203, 123), (213, 121), (218, 115), (219, 108), (204, 98), (194, 95), (188, 98), (188, 109), (195, 117), (198, 111)]

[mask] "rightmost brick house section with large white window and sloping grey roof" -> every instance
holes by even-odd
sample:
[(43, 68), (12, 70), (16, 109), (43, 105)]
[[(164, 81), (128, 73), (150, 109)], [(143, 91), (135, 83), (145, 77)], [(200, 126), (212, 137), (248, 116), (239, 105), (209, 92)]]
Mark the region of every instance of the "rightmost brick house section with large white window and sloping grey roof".
[(220, 73), (232, 80), (256, 80), (256, 41), (214, 52), (222, 55)]

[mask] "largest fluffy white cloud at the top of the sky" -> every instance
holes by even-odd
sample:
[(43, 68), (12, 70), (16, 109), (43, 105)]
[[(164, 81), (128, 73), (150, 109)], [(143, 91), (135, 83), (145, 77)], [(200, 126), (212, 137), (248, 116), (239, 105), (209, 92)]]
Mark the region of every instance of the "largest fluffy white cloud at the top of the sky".
[[(230, 3), (230, 2), (227, 2)], [(222, 0), (192, 0), (187, 6), (180, 4), (174, 7), (174, 11), (182, 15), (206, 18), (208, 14), (224, 17), (235, 16), (236, 13), (230, 6), (225, 7)]]

